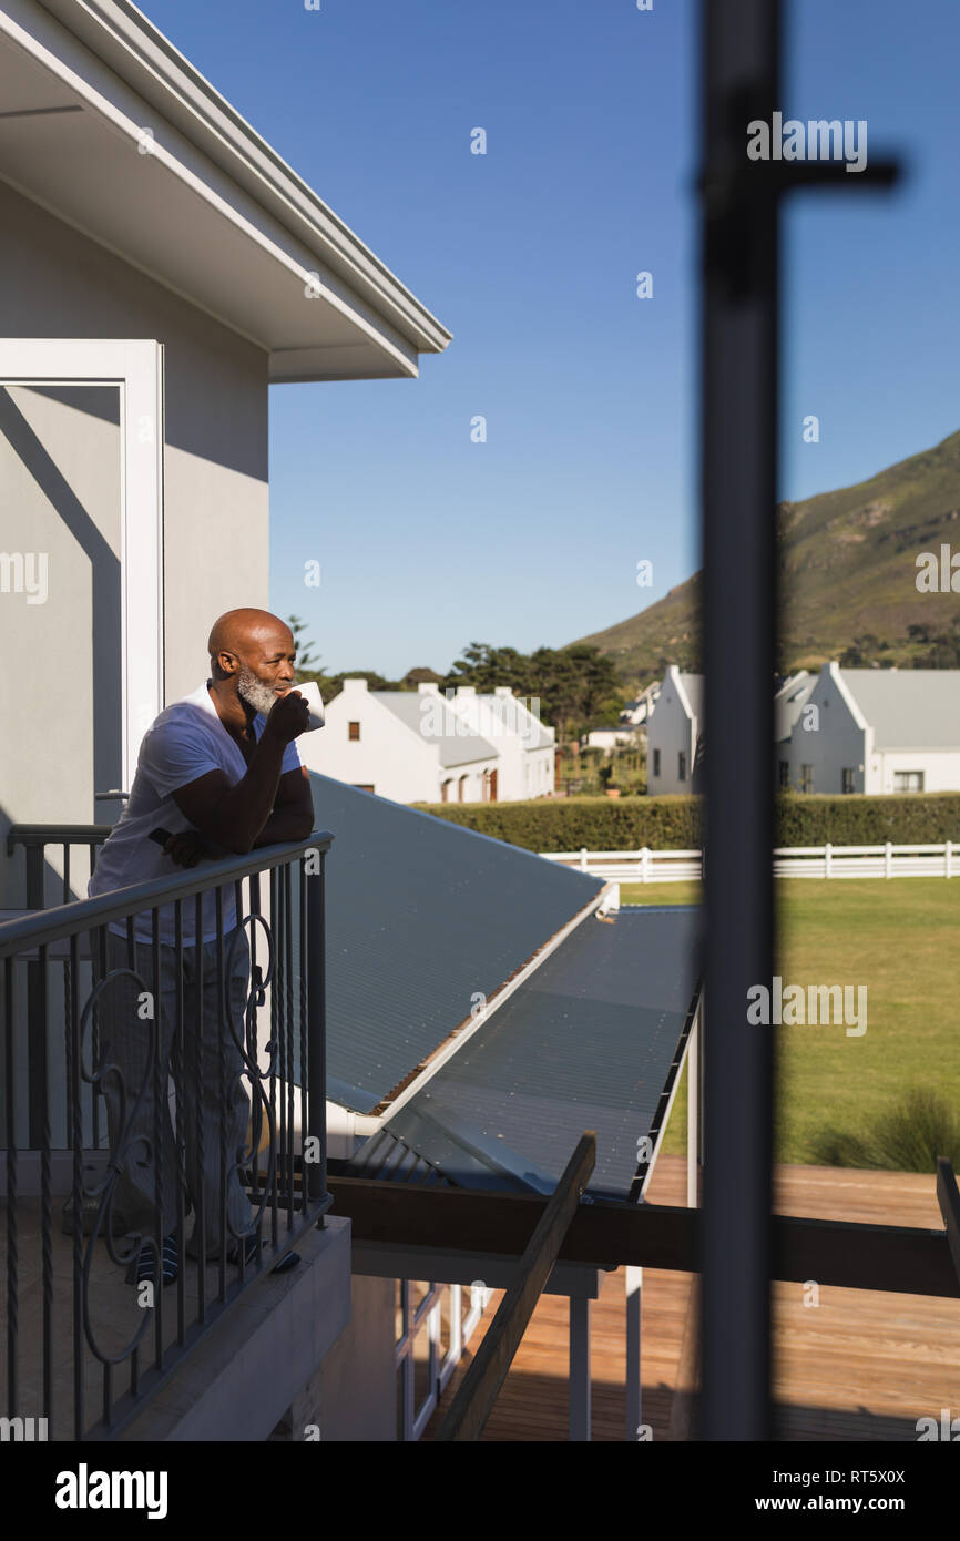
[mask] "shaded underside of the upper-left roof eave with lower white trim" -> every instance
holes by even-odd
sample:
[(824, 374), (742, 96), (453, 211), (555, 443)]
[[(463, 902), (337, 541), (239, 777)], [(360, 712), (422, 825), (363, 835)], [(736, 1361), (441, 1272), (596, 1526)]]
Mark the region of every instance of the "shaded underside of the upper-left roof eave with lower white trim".
[[(86, 131), (102, 136), (105, 154), (105, 165), (97, 170), (94, 142), (82, 163), (92, 177), (89, 197), (76, 179), (62, 176), (57, 183), (57, 162), (48, 163), (37, 179), (31, 179), (29, 162), (5, 166), (11, 186), (265, 350), (274, 381), (418, 374), (415, 342), (391, 325), (382, 307), (365, 300), (327, 264), (322, 242), (314, 239), (308, 247), (196, 142), (171, 122), (156, 119), (133, 86), (35, 0), (5, 0), (0, 39), (8, 51), (20, 52), (83, 108)], [(145, 131), (151, 145), (142, 163), (149, 160), (154, 186), (143, 194), (146, 202), (139, 217), (129, 191), (123, 206), (109, 206), (108, 163), (112, 157), (114, 168), (120, 166), (119, 143), (125, 146), (123, 156), (136, 157)], [(194, 243), (199, 240), (196, 257), (183, 245), (165, 253), (156, 231), (148, 233), (151, 219), (154, 223), (159, 219), (168, 231), (191, 231)], [(211, 273), (211, 251), (220, 253), (219, 271), (227, 271), (236, 285), (231, 300), (219, 273)], [(196, 288), (191, 264), (196, 264)], [(308, 285), (317, 313), (307, 327), (302, 316), (293, 317), (291, 304)]]

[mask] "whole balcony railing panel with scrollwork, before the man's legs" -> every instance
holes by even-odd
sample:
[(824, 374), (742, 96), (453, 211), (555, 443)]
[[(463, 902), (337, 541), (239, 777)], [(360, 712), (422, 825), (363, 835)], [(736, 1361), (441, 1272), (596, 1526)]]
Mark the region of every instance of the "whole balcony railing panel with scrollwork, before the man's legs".
[(333, 837), (74, 898), (71, 851), (92, 871), (108, 835), (14, 826), (26, 906), (0, 923), (6, 1416), (60, 1439), (125, 1429), (331, 1204)]

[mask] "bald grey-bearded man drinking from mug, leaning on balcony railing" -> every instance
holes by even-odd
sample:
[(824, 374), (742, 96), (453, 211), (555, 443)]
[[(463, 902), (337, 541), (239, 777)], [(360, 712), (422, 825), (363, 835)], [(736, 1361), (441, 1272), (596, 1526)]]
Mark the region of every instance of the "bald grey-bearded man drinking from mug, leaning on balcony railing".
[[(313, 798), (307, 769), (300, 764), (296, 738), (308, 723), (307, 701), (291, 689), (296, 646), (290, 627), (268, 610), (228, 610), (213, 626), (208, 641), (210, 678), (165, 707), (146, 730), (137, 772), (123, 814), (97, 858), (88, 894), (171, 875), (176, 866), (194, 866), (202, 857), (248, 854), (256, 846), (305, 840), (313, 829)], [(165, 841), (151, 832), (168, 832)], [(250, 948), (237, 926), (234, 886), (222, 888), (223, 968), (228, 980), (233, 1034), (217, 1005), (217, 912), (216, 891), (203, 895), (202, 935), (196, 937), (196, 900), (182, 901), (182, 968), (176, 952), (176, 911), (157, 908), (160, 1009), (156, 1023), (142, 1019), (142, 989), (151, 991), (153, 911), (136, 917), (136, 963), (139, 979), (120, 974), (99, 999), (103, 1059), (117, 1066), (126, 1093), (126, 1130), (120, 1123), (117, 1076), (102, 1083), (106, 1100), (111, 1151), (120, 1159), (114, 1211), (128, 1236), (139, 1236), (128, 1282), (171, 1284), (180, 1267), (177, 1182), (185, 1174), (185, 1205), (194, 1214), (203, 1205), (208, 1259), (219, 1256), (222, 1208), (227, 1210), (228, 1256), (236, 1261), (237, 1237), (251, 1228), (251, 1208), (240, 1183), (239, 1165), (247, 1143), (250, 1099), (243, 1085), (243, 1060), (236, 1039), (245, 1034), (250, 992)], [(102, 977), (100, 938), (91, 935), (91, 955)], [(105, 935), (106, 969), (126, 969), (126, 929), (120, 923)], [(196, 1019), (197, 979), (203, 979), (202, 1054)], [(183, 983), (183, 1073), (171, 1065), (177, 986)], [(162, 1159), (153, 1160), (154, 1077), (148, 1076), (151, 1031), (156, 1026), (162, 1088)], [(174, 1056), (176, 1059), (176, 1056)], [(202, 1062), (202, 1063), (200, 1063)], [(182, 1162), (166, 1108), (166, 1066), (183, 1099), (185, 1131)], [(143, 1086), (139, 1106), (137, 1094)], [(227, 1176), (220, 1173), (220, 1126), (227, 1123)], [(200, 1137), (202, 1136), (202, 1137)], [(122, 1151), (117, 1150), (122, 1142)], [(157, 1208), (159, 1205), (159, 1208)], [(163, 1237), (160, 1268), (156, 1256), (157, 1216)], [(251, 1242), (247, 1241), (247, 1254)], [(253, 1244), (256, 1248), (256, 1244)], [(186, 1244), (199, 1251), (199, 1222)], [(277, 1268), (296, 1262), (287, 1253)]]

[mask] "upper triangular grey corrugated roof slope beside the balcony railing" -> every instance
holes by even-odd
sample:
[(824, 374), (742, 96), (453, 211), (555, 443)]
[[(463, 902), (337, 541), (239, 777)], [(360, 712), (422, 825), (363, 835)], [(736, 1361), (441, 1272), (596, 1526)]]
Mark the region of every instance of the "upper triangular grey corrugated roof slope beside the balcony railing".
[(370, 1113), (604, 885), (330, 777), (310, 783), (317, 828), (334, 835), (328, 1091)]

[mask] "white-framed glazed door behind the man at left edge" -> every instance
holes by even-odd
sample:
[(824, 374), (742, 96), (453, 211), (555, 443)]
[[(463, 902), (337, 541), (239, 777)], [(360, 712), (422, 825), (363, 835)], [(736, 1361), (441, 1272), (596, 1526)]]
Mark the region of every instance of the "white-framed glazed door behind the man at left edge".
[(0, 339), (0, 837), (120, 814), (163, 704), (162, 452), (162, 344)]

